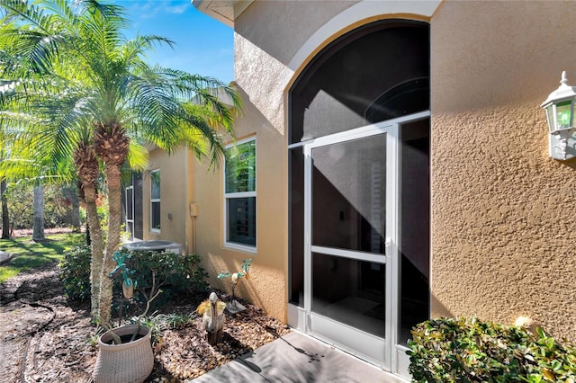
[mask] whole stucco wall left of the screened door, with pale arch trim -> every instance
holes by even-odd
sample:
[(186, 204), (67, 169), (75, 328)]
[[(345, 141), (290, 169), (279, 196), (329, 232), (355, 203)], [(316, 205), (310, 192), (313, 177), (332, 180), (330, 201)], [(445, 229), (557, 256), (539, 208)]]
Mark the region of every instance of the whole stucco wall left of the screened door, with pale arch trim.
[[(236, 129), (238, 139), (257, 137), (257, 254), (222, 247), (221, 171), (216, 176), (196, 171), (193, 198), (200, 210), (197, 253), (206, 257), (212, 285), (228, 289), (228, 281), (222, 283), (215, 276), (223, 270), (239, 270), (241, 260), (252, 257), (252, 277), (247, 283), (242, 281), (240, 293), (286, 320), (288, 89), (314, 52), (362, 23), (358, 21), (393, 17), (378, 10), (404, 12), (411, 8), (405, 2), (256, 1), (238, 17), (234, 25), (235, 81), (243, 93), (245, 113)], [(330, 22), (332, 26), (327, 27)], [(325, 30), (316, 38), (321, 28)], [(310, 44), (309, 52), (306, 47)]]

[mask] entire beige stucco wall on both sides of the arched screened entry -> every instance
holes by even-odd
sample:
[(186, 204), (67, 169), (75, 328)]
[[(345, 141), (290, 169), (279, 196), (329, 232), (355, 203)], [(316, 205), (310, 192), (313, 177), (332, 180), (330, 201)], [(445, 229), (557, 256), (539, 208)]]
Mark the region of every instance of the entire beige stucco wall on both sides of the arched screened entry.
[[(379, 13), (392, 2), (366, 4), (378, 11), (365, 22), (418, 13)], [(251, 279), (238, 292), (281, 319), (287, 287), (286, 92), (338, 32), (303, 49), (311, 36), (341, 14), (353, 15), (358, 5), (257, 1), (235, 22), (235, 76), (245, 100), (238, 138), (257, 137), (257, 254), (222, 246), (221, 170), (199, 167), (190, 186), (199, 208), (196, 250), (212, 284), (229, 289), (215, 276), (253, 258)], [(558, 338), (576, 341), (576, 161), (548, 157), (539, 107), (562, 70), (576, 84), (576, 7), (545, 1), (433, 6), (431, 314), (508, 324), (531, 316)]]

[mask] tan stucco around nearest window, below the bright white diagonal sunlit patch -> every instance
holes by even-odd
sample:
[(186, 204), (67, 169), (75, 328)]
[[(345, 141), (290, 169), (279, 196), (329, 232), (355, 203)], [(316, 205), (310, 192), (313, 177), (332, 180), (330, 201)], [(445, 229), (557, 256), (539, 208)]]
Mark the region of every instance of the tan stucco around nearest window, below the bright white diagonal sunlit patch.
[(211, 286), (231, 291), (222, 271), (239, 272), (242, 260), (252, 258), (250, 278), (241, 280), (237, 294), (286, 320), (286, 149), (284, 136), (244, 99), (244, 117), (236, 121), (237, 138), (257, 140), (257, 253), (224, 247), (223, 168), (212, 172), (196, 165), (193, 198), (198, 204), (196, 253), (210, 274)]

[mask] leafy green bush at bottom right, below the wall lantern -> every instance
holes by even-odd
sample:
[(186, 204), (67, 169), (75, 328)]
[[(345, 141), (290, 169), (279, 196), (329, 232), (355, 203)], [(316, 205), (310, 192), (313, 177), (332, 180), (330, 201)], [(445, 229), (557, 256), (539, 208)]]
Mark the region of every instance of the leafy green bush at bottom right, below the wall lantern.
[(477, 318), (430, 319), (412, 330), (410, 373), (418, 382), (576, 381), (576, 348), (538, 329)]

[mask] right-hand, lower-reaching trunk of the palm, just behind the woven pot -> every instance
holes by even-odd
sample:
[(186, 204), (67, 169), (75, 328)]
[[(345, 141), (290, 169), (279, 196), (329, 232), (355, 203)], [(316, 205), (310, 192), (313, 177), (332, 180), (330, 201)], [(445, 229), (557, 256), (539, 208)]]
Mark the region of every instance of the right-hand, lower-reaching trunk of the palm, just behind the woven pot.
[(108, 237), (100, 286), (100, 320), (102, 323), (110, 323), (110, 308), (112, 307), (112, 280), (108, 274), (114, 270), (116, 264), (112, 255), (120, 246), (121, 230), (121, 172), (120, 166), (107, 163), (104, 167), (106, 182), (108, 183)]

